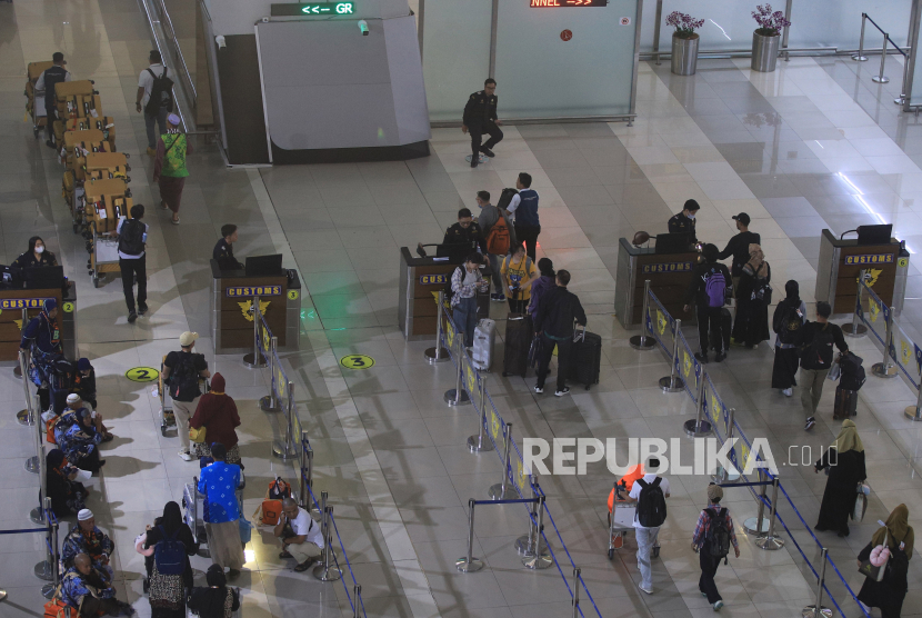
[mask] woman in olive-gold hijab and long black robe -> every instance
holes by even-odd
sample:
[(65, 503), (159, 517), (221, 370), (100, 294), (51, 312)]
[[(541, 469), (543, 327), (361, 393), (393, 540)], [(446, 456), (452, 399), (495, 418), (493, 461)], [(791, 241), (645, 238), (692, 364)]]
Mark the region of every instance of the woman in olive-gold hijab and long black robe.
[(864, 445), (854, 421), (845, 420), (835, 441), (813, 466), (813, 471), (829, 469), (829, 480), (814, 530), (835, 530), (849, 536), (849, 514), (854, 510), (858, 484), (868, 478), (864, 471)]

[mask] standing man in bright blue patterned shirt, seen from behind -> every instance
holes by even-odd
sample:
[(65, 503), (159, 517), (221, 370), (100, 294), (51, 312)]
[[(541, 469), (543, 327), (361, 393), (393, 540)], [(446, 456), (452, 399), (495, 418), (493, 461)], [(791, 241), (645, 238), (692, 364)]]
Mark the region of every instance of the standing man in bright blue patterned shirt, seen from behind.
[(228, 576), (240, 575), (243, 566), (243, 544), (240, 540), (240, 466), (224, 459), (228, 449), (220, 442), (211, 445), (214, 462), (202, 469), (199, 494), (204, 496), (204, 530), (211, 561), (229, 569)]

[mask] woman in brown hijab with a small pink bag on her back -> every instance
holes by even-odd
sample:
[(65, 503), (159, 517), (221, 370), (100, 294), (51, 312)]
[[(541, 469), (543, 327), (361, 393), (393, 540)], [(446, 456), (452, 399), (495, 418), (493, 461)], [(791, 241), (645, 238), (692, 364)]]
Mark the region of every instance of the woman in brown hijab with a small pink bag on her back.
[(909, 509), (905, 505), (900, 505), (886, 518), (885, 526), (874, 532), (871, 542), (858, 555), (858, 564), (861, 566), (875, 547), (886, 544), (890, 549), (890, 561), (884, 570), (883, 580), (873, 581), (866, 578), (858, 594), (858, 600), (865, 606), (881, 608), (881, 618), (900, 618), (909, 587), (906, 568), (909, 559), (912, 558), (914, 541), (915, 534), (909, 525)]

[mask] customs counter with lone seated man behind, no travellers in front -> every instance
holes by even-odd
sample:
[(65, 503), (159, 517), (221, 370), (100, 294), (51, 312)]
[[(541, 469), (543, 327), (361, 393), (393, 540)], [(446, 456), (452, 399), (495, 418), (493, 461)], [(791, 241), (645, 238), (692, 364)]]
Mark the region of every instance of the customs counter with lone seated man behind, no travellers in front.
[(244, 270), (221, 270), (211, 260), (211, 336), (214, 353), (253, 351), (253, 299), (278, 338), (280, 352), (299, 349), (301, 280), (294, 270), (248, 276)]

